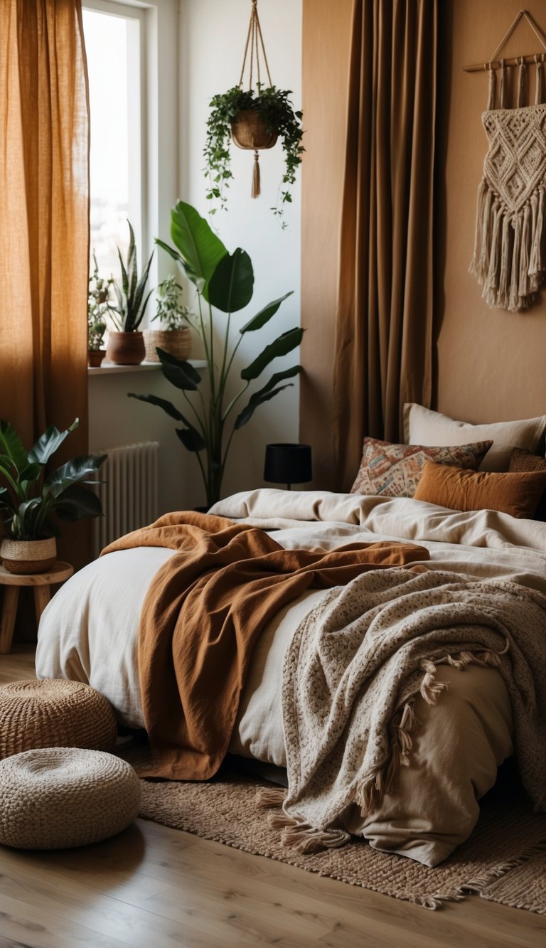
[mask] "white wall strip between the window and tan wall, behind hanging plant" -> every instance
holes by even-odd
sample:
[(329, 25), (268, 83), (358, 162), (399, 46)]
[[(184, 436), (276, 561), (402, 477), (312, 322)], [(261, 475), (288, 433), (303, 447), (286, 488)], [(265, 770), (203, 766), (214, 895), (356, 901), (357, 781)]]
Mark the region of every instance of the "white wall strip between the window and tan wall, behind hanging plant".
[[(301, 0), (260, 0), (258, 11), (272, 82), (280, 88), (292, 89), (295, 108), (299, 109)], [(239, 82), (249, 16), (249, 0), (181, 0), (180, 4), (179, 191), (202, 214), (207, 213), (209, 205), (203, 174), (209, 101), (216, 93)], [(280, 143), (260, 155), (262, 194), (255, 200), (250, 197), (252, 152), (232, 146), (231, 153), (234, 180), (228, 191), (228, 211), (218, 211), (212, 221), (230, 252), (241, 246), (250, 255), (255, 278), (250, 305), (233, 320), (234, 335), (265, 303), (294, 290), (294, 296), (282, 303), (263, 330), (246, 335), (235, 366), (238, 376), (268, 342), (300, 325), (300, 172), (293, 203), (285, 212), (288, 227), (282, 230), (269, 210), (276, 202), (282, 176)], [(276, 360), (254, 387), (261, 388), (269, 374), (298, 360), (298, 352)], [(296, 379), (294, 388), (286, 389), (256, 410), (246, 428), (236, 432), (224, 479), (225, 495), (264, 484), (264, 447), (268, 442), (298, 441), (297, 383)], [(251, 391), (243, 397), (242, 407)]]

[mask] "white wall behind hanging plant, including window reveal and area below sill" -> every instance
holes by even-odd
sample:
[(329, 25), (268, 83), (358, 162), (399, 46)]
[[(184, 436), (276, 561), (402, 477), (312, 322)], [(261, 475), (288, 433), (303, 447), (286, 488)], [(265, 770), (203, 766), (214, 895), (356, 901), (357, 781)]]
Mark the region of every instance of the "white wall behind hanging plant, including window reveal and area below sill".
[[(301, 0), (260, 0), (259, 13), (272, 81), (292, 89), (295, 107), (300, 108)], [(249, 0), (179, 0), (179, 9), (175, 0), (153, 0), (150, 5), (151, 40), (154, 44), (157, 37), (158, 70), (158, 96), (152, 83), (148, 103), (151, 135), (155, 137), (153, 152), (157, 155), (157, 161), (153, 156), (150, 164), (153, 200), (149, 220), (153, 236), (170, 241), (169, 211), (179, 197), (202, 214), (208, 210), (202, 169), (209, 100), (239, 80), (249, 15)], [(154, 64), (153, 46), (149, 55)], [(176, 71), (177, 88), (173, 84)], [(288, 227), (282, 230), (269, 210), (282, 175), (280, 145), (261, 154), (262, 195), (257, 200), (249, 196), (252, 164), (252, 153), (233, 146), (235, 179), (229, 189), (228, 212), (212, 218), (228, 250), (242, 246), (254, 265), (254, 297), (250, 306), (233, 319), (234, 334), (265, 303), (288, 290), (294, 290), (294, 295), (263, 330), (246, 336), (239, 350), (236, 375), (268, 342), (300, 324), (300, 173), (293, 203), (285, 214)], [(165, 257), (161, 254), (157, 260), (160, 277), (168, 269)], [(194, 355), (198, 357), (199, 352)], [(298, 360), (297, 352), (276, 360), (269, 374)], [(259, 383), (253, 384), (241, 407), (269, 374), (266, 371)], [(161, 410), (128, 399), (130, 391), (154, 392), (174, 403), (181, 398), (159, 372), (94, 374), (89, 382), (91, 448), (158, 440), (161, 512), (203, 504), (205, 494), (197, 464), (178, 441), (174, 423)], [(272, 441), (298, 441), (298, 429), (296, 384), (261, 406), (246, 428), (235, 434), (223, 494), (263, 485), (264, 446)]]

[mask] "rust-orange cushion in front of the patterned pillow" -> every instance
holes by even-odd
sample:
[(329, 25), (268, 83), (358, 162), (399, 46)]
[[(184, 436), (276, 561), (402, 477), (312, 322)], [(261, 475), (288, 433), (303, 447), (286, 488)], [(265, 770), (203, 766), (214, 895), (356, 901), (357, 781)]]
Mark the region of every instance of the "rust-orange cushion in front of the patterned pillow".
[(531, 518), (545, 489), (546, 471), (474, 472), (428, 461), (413, 496), (451, 510), (499, 510)]

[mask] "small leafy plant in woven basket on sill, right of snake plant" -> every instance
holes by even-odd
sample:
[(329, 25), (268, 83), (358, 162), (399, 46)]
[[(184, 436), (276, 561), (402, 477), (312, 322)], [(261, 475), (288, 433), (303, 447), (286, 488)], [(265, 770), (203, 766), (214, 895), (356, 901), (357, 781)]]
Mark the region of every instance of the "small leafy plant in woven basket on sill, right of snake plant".
[(159, 319), (161, 329), (143, 331), (146, 347), (146, 361), (158, 362), (156, 348), (164, 349), (177, 358), (187, 359), (191, 353), (189, 320), (194, 314), (189, 306), (182, 302), (184, 290), (176, 283), (173, 275), (166, 277), (157, 287), (157, 309), (155, 319)]

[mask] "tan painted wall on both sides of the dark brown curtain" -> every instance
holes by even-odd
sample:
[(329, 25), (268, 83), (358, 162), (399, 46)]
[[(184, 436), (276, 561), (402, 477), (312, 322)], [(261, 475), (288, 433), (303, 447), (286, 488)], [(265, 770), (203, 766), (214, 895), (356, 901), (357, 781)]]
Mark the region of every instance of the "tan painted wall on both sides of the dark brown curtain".
[[(486, 60), (520, 9), (519, 0), (442, 0), (442, 90), (438, 124), (436, 391), (433, 408), (468, 421), (546, 412), (546, 291), (528, 311), (491, 310), (468, 273), (486, 139), (486, 73), (463, 66)], [(528, 7), (546, 31), (543, 0)], [(300, 440), (314, 447), (315, 485), (332, 482), (332, 370), (339, 209), (343, 184), (346, 87), (352, 0), (303, 0), (303, 109), (307, 148), (302, 175)], [(525, 23), (507, 57), (539, 50)], [(535, 70), (529, 69), (534, 95)]]

